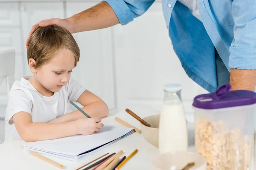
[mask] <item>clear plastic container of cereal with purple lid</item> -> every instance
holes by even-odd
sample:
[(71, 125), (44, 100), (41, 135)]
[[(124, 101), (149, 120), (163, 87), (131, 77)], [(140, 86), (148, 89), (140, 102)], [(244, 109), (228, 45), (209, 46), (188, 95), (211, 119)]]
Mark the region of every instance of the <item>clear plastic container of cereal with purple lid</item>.
[(207, 159), (207, 170), (253, 170), (256, 93), (230, 91), (196, 96), (195, 147)]

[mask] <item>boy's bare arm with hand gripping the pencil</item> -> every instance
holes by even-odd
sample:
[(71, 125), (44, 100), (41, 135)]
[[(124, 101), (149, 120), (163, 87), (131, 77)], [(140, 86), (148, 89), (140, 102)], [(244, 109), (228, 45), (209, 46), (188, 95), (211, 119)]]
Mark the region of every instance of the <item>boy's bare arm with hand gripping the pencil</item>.
[(20, 137), (26, 142), (58, 139), (76, 134), (88, 135), (99, 131), (100, 119), (80, 119), (64, 123), (33, 123), (32, 116), (27, 112), (19, 112), (13, 116), (13, 121)]

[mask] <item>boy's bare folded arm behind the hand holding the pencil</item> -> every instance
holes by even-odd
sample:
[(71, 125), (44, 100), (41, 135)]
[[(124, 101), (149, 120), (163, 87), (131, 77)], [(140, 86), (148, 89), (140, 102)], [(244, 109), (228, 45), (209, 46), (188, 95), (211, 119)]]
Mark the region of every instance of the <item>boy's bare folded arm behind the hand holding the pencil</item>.
[[(77, 99), (83, 108), (81, 108), (85, 113), (87, 113), (91, 117), (99, 117), (103, 118), (108, 116), (108, 106), (106, 103), (100, 99), (98, 96), (93, 94), (92, 92), (85, 90), (81, 96)], [(63, 116), (58, 117), (57, 119), (53, 119), (49, 123), (60, 123), (60, 122), (69, 122), (78, 119), (86, 118), (83, 113), (79, 110), (64, 114)]]

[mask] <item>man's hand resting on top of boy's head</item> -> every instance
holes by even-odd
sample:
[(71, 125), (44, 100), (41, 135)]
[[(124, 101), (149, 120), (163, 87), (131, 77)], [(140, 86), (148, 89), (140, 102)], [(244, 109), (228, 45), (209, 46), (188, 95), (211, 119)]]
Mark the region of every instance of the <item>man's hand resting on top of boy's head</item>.
[(70, 26), (70, 23), (66, 19), (52, 18), (49, 20), (42, 20), (39, 23), (36, 23), (34, 26), (32, 26), (32, 28), (29, 32), (29, 36), (26, 40), (26, 48), (28, 48), (28, 46), (29, 46), (29, 40), (30, 40), (31, 35), (37, 28), (46, 27), (46, 26), (50, 26), (50, 25), (61, 26), (63, 28), (66, 28), (67, 31), (70, 31), (70, 33), (72, 33), (72, 26)]

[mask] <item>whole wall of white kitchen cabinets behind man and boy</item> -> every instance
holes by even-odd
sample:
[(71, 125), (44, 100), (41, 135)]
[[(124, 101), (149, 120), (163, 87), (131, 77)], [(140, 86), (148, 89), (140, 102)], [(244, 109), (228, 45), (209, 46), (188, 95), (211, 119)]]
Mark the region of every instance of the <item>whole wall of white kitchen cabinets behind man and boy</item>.
[[(100, 0), (0, 0), (0, 51), (15, 48), (15, 80), (30, 75), (25, 42), (35, 23), (66, 18)], [(188, 121), (193, 121), (192, 100), (207, 93), (187, 77), (172, 49), (161, 0), (133, 22), (73, 34), (81, 49), (72, 77), (108, 104), (113, 113), (136, 106), (160, 113), (163, 85), (183, 86)], [(0, 85), (0, 143), (4, 140), (6, 84)], [(139, 114), (139, 113), (138, 113)]]

